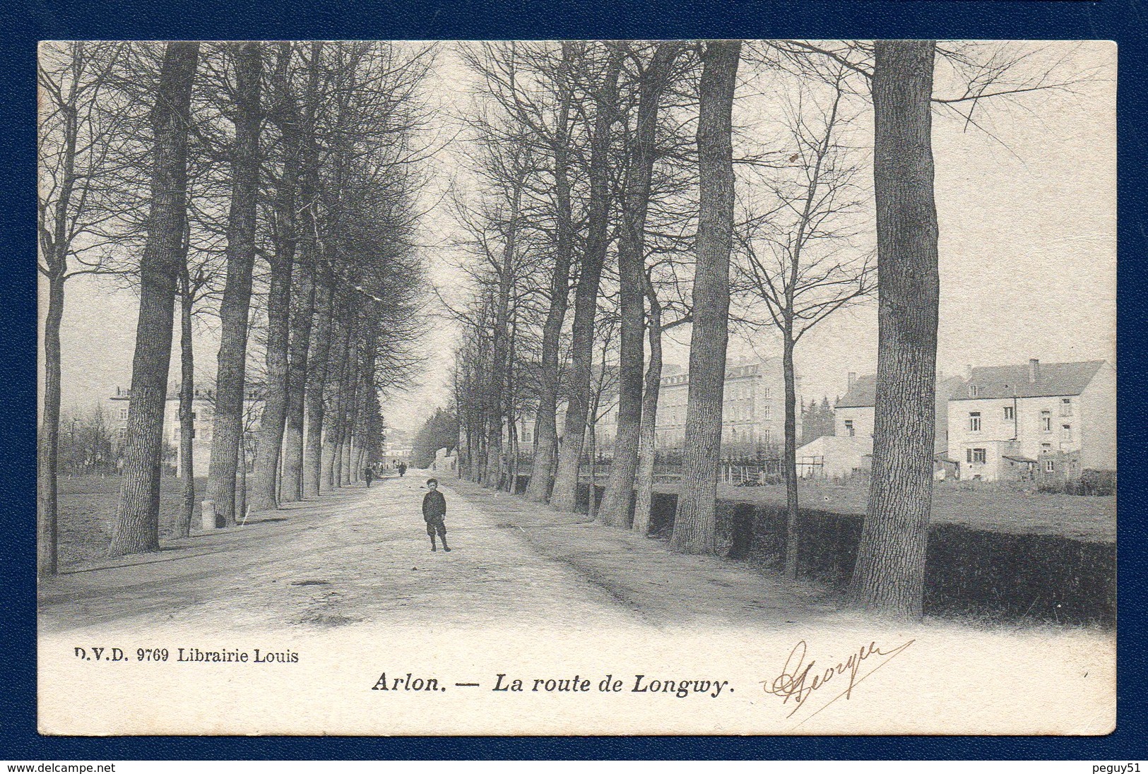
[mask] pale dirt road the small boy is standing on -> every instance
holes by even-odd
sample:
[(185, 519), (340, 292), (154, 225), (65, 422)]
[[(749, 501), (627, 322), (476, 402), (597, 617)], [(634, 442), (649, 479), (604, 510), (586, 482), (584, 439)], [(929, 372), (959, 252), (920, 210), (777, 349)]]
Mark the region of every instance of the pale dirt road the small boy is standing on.
[(354, 626), (579, 630), (700, 621), (769, 626), (823, 617), (833, 601), (739, 563), (519, 497), (444, 479), (451, 552), (430, 552), (425, 475), (294, 503), (247, 526), (173, 541), (44, 582), (42, 632), (101, 625), (205, 630)]

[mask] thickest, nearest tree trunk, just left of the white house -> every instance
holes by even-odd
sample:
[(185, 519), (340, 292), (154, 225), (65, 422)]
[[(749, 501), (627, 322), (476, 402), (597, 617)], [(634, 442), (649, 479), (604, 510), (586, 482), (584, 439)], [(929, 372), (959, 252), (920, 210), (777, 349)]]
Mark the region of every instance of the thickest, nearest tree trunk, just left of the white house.
[(878, 40), (872, 73), (877, 202), (877, 394), (872, 480), (848, 604), (918, 619), (932, 501), (937, 208), (936, 44)]

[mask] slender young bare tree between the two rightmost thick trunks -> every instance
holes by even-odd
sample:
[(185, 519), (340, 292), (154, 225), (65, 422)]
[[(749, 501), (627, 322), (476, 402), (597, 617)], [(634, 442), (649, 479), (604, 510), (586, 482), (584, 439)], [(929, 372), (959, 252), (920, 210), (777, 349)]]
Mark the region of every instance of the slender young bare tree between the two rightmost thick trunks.
[(786, 106), (788, 163), (778, 164), (766, 181), (767, 211), (747, 217), (738, 234), (739, 279), (751, 305), (765, 305), (766, 324), (782, 338), (782, 472), (788, 510), (785, 573), (790, 578), (797, 576), (799, 505), (793, 350), (821, 320), (867, 295), (872, 277), (869, 254), (852, 241), (861, 200), (854, 181), (858, 164), (840, 138), (850, 122), (843, 103), (847, 75), (844, 68), (833, 72), (828, 96), (820, 102), (815, 84), (798, 84)]

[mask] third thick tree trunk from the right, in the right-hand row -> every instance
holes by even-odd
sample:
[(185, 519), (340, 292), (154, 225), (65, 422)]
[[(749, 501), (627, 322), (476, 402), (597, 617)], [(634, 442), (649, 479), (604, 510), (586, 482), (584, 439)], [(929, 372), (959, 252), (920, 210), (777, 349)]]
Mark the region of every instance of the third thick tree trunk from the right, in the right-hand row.
[(629, 526), (634, 477), (642, 434), (642, 363), (645, 359), (645, 220), (650, 178), (657, 154), (658, 110), (661, 93), (682, 44), (660, 42), (638, 86), (638, 118), (633, 158), (622, 196), (622, 233), (618, 242), (618, 282), (621, 334), (618, 365), (618, 435), (610, 482), (598, 519), (615, 527)]

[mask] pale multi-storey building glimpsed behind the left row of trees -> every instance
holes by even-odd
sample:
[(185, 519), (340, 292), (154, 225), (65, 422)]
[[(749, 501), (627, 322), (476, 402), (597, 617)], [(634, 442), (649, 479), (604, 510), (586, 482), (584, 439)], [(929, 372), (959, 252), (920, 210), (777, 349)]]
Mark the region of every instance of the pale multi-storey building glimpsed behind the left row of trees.
[[(127, 403), (131, 401), (132, 390), (116, 387), (116, 394), (108, 397), (111, 404), (109, 415), (111, 417), (113, 442), (118, 449), (127, 436)], [(259, 411), (263, 401), (257, 390), (248, 389), (243, 396), (245, 404), (245, 443), (248, 447), (254, 444), (254, 432), (258, 425)], [(211, 431), (215, 418), (215, 390), (211, 388), (196, 387), (192, 397), (192, 471), (194, 475), (207, 475), (208, 466), (211, 462)], [(163, 407), (163, 442), (173, 449), (174, 469), (177, 475), (180, 470), (181, 449), (179, 446), (179, 385), (168, 394), (168, 401)], [(254, 449), (248, 449), (248, 456)]]

